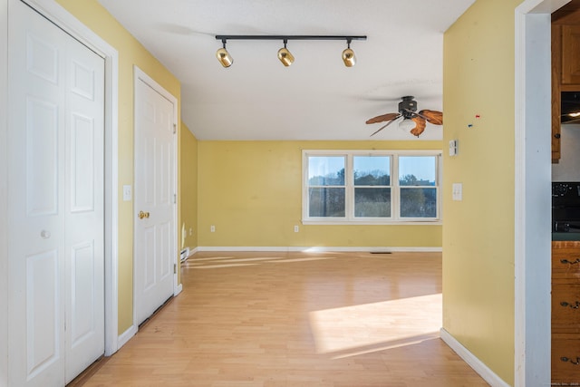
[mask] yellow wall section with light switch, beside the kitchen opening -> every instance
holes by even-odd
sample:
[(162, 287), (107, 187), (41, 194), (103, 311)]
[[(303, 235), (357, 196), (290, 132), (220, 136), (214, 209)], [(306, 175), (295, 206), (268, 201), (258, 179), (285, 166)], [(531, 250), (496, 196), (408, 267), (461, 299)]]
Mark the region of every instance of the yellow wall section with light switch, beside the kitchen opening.
[[(478, 0), (445, 33), (443, 51), (444, 143), (459, 140), (459, 155), (443, 160), (443, 327), (510, 384), (514, 10), (521, 2)], [(462, 201), (451, 200), (455, 182), (463, 183)]]

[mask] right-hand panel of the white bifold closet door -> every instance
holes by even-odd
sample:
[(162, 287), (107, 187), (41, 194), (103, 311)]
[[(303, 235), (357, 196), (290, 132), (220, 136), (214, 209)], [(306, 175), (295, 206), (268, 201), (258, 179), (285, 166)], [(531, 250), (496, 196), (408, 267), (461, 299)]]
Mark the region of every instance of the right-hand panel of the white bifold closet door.
[(66, 382), (104, 353), (104, 60), (66, 35)]

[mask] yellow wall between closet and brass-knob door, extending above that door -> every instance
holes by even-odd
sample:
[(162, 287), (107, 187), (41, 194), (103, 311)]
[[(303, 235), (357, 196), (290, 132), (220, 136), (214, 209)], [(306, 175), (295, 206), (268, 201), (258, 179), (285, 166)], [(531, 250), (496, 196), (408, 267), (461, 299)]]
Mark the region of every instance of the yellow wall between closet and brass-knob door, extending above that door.
[[(180, 84), (96, 0), (57, 0), (119, 52), (119, 187), (133, 185), (133, 65), (180, 98)], [(178, 114), (179, 105), (178, 105)], [(133, 323), (133, 203), (119, 189), (119, 334)]]

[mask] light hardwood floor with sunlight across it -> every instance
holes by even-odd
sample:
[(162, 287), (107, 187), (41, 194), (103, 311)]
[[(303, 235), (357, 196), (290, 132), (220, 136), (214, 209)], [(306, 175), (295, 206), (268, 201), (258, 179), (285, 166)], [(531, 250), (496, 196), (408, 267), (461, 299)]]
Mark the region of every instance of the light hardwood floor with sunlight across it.
[(198, 253), (84, 386), (487, 386), (439, 338), (438, 253)]

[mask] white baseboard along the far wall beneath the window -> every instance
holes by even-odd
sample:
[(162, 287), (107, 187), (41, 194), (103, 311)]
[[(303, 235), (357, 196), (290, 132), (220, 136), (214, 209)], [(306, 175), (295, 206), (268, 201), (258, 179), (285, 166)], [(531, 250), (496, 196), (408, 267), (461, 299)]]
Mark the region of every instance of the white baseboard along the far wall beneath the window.
[[(442, 247), (213, 247), (213, 246), (200, 246), (194, 249), (194, 252), (198, 251), (281, 251), (281, 252), (304, 252), (304, 253), (316, 253), (316, 252), (420, 252), (420, 253), (440, 253)], [(193, 254), (193, 253), (192, 253)]]

